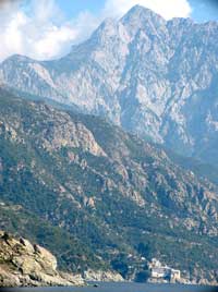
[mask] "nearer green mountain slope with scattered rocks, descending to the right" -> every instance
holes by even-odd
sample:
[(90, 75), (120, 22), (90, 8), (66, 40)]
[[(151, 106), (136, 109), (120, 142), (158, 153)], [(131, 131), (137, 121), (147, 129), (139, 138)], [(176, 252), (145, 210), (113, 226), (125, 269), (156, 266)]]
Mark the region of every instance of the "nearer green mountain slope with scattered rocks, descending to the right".
[(0, 228), (49, 248), (63, 269), (134, 279), (157, 257), (216, 281), (218, 188), (160, 147), (0, 89)]

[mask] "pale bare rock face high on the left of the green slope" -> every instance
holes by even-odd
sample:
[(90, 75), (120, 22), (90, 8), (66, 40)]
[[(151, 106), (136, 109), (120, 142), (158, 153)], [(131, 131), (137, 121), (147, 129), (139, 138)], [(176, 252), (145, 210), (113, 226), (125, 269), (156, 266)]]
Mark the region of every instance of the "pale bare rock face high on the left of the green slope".
[[(34, 134), (34, 138), (38, 147), (45, 150), (58, 151), (64, 147), (80, 148), (83, 151), (89, 153), (94, 156), (106, 156), (101, 147), (96, 143), (93, 133), (87, 130), (82, 123), (72, 121), (70, 114), (49, 107), (47, 105), (40, 105), (36, 107), (35, 102), (29, 104), (33, 111), (37, 110), (36, 117), (40, 117), (41, 112), (46, 114), (40, 117), (39, 121), (29, 120), (28, 125), (32, 130), (26, 127), (26, 124), (22, 124), (23, 117), (21, 112), (14, 114), (13, 121), (10, 119), (0, 119), (0, 134), (7, 136), (12, 142), (23, 143), (22, 138), (19, 138), (19, 134), (26, 133), (28, 135)], [(11, 111), (12, 112), (12, 111)], [(59, 119), (57, 120), (57, 115)], [(38, 131), (35, 131), (38, 127)], [(1, 171), (1, 161), (0, 161)]]

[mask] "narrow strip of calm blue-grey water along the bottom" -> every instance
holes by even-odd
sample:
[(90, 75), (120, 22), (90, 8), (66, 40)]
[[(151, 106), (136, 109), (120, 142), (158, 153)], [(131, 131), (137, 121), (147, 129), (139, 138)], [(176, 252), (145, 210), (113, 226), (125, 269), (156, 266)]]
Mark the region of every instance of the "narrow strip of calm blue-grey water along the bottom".
[(98, 288), (23, 288), (3, 292), (218, 292), (216, 288), (172, 284), (99, 283)]

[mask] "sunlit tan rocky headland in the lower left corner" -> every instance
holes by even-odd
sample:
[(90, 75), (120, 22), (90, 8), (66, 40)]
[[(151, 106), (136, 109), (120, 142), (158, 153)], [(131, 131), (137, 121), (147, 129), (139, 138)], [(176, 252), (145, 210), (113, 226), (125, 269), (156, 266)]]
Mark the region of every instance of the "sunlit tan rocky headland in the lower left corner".
[(59, 272), (56, 257), (44, 247), (0, 231), (0, 287), (81, 284), (80, 276)]

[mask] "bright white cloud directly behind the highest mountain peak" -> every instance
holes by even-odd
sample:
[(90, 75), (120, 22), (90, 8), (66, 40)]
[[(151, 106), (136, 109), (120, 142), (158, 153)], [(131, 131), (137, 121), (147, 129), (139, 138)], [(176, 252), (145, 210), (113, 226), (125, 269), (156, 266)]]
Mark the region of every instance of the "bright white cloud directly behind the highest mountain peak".
[(187, 0), (107, 0), (105, 13), (121, 16), (136, 4), (152, 9), (166, 20), (187, 17), (192, 11)]

